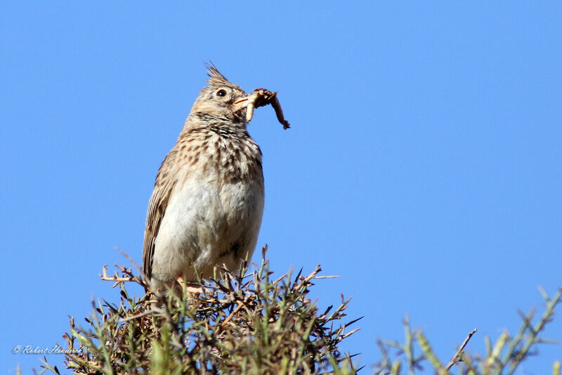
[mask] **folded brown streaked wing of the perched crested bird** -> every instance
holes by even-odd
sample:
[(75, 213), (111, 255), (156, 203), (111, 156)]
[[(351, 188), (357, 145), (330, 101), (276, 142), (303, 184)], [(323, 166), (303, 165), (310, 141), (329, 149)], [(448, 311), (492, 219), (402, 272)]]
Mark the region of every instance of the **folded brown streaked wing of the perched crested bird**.
[(152, 278), (152, 257), (156, 245), (156, 236), (166, 212), (171, 191), (176, 184), (174, 174), (170, 173), (171, 165), (174, 165), (176, 150), (170, 151), (156, 175), (156, 182), (146, 212), (145, 239), (143, 245), (143, 272), (149, 280)]

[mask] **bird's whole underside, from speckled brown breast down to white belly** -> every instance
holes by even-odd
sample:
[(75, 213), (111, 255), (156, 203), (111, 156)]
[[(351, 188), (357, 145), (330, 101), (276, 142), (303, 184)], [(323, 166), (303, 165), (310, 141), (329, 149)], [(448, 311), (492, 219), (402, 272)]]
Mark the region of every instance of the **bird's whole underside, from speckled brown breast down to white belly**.
[(181, 168), (160, 224), (154, 253), (157, 279), (212, 276), (214, 265), (236, 267), (251, 257), (263, 214), (261, 152), (251, 139), (207, 136), (178, 141)]

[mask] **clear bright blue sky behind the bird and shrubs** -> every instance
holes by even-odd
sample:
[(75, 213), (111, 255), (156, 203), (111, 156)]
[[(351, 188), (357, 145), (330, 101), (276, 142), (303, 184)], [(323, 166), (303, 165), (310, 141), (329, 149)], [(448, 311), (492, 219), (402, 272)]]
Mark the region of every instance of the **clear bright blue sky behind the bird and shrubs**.
[[(213, 61), (278, 97), (263, 151), (259, 246), (271, 268), (353, 295), (343, 349), (424, 329), (443, 362), (466, 333), (516, 331), (562, 285), (562, 3), (9, 2), (0, 9), (4, 308), (15, 345), (62, 343), (67, 315), (112, 298), (103, 265), (142, 258), (148, 198)], [(254, 260), (259, 260), (259, 251)], [(546, 335), (562, 339), (562, 319)], [(561, 346), (520, 374), (545, 374)], [(48, 357), (59, 364), (63, 358)], [(370, 373), (370, 369), (365, 373)]]

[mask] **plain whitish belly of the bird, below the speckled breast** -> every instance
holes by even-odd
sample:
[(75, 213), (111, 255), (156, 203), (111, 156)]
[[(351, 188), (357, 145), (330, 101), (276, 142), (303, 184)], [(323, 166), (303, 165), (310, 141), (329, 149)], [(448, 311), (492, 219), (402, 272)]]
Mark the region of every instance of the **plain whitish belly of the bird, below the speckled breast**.
[(263, 214), (262, 184), (199, 180), (177, 189), (156, 237), (153, 278), (195, 281), (195, 269), (212, 277), (215, 265), (234, 271), (251, 258)]

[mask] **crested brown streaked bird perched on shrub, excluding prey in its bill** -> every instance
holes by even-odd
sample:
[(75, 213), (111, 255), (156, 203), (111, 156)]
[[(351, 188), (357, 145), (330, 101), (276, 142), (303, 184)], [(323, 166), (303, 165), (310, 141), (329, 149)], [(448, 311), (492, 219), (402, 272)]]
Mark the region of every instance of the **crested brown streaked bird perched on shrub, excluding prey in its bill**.
[(143, 274), (157, 290), (213, 277), (216, 266), (236, 271), (254, 253), (261, 227), (262, 153), (247, 131), (251, 95), (212, 63), (207, 74), (148, 203)]

